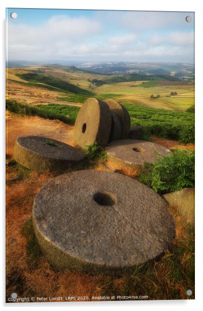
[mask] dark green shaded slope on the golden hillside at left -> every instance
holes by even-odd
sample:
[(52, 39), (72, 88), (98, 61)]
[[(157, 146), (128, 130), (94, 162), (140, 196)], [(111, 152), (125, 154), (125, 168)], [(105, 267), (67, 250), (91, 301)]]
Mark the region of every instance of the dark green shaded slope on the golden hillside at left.
[(17, 77), (32, 82), (32, 83), (43, 83), (46, 85), (50, 85), (52, 87), (56, 87), (61, 90), (69, 91), (69, 92), (74, 92), (77, 94), (87, 94), (90, 95), (92, 94), (91, 92), (82, 89), (76, 85), (73, 85), (69, 82), (63, 81), (61, 79), (55, 78), (53, 76), (44, 76), (44, 75), (39, 75), (36, 73), (24, 73), (24, 74), (16, 74)]

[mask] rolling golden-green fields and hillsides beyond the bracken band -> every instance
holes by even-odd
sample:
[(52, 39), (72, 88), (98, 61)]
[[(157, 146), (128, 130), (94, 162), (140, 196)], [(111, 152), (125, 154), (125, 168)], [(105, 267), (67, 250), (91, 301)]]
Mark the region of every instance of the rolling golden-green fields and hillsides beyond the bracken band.
[[(146, 77), (138, 75), (130, 76), (128, 79), (110, 78), (109, 75), (74, 71), (54, 65), (26, 69), (9, 68), (7, 98), (32, 105), (62, 103), (61, 101), (81, 104), (86, 97), (92, 96), (100, 99), (114, 98), (120, 103), (141, 107), (175, 111), (185, 111), (194, 105), (193, 82), (169, 81), (160, 77), (147, 81), (144, 80)], [(137, 80), (139, 78), (142, 80)], [(119, 80), (127, 81), (111, 82)], [(171, 92), (177, 92), (177, 95), (170, 96)], [(160, 97), (150, 98), (152, 94), (155, 97), (159, 94)]]

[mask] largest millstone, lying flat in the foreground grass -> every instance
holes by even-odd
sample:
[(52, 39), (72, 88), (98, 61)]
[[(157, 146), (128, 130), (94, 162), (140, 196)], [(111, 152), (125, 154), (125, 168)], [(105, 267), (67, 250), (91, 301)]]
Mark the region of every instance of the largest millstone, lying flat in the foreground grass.
[(168, 203), (142, 183), (112, 172), (77, 171), (38, 192), (33, 227), (57, 270), (128, 271), (160, 255), (175, 225)]

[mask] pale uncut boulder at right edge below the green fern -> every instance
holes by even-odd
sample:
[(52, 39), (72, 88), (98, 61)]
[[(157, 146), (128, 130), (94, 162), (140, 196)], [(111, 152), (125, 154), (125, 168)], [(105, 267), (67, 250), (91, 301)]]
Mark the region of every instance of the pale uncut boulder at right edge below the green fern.
[(194, 226), (194, 188), (184, 188), (164, 194), (163, 197), (169, 205), (177, 209), (186, 222)]

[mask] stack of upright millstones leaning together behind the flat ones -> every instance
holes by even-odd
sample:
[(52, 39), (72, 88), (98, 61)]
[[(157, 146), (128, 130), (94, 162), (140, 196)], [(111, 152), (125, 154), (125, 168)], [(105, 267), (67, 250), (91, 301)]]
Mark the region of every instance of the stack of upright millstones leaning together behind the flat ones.
[(129, 130), (130, 116), (122, 105), (88, 98), (77, 115), (73, 140), (82, 148), (94, 142), (105, 147), (109, 141), (127, 138)]

